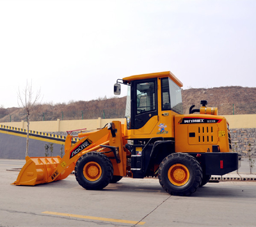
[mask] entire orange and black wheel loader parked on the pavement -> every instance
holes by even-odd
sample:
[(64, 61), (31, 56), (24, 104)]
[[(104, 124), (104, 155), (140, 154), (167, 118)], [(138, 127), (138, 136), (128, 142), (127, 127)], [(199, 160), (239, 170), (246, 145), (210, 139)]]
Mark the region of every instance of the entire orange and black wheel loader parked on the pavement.
[[(225, 175), (239, 168), (237, 153), (230, 152), (227, 120), (217, 107), (192, 105), (183, 114), (182, 82), (172, 72), (133, 75), (118, 79), (127, 86), (125, 123), (112, 121), (93, 132), (81, 131), (65, 140), (65, 155), (26, 157), (15, 185), (37, 185), (66, 178), (88, 190), (104, 189), (123, 176), (158, 177), (163, 189), (189, 196), (209, 182), (211, 175)], [(79, 140), (74, 145), (72, 137)]]

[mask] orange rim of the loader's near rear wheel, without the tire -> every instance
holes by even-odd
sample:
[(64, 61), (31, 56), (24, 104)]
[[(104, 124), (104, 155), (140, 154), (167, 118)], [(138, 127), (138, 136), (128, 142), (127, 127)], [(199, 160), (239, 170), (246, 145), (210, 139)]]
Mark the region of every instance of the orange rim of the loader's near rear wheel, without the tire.
[(188, 168), (182, 164), (174, 164), (168, 170), (168, 179), (173, 185), (185, 185), (189, 180)]

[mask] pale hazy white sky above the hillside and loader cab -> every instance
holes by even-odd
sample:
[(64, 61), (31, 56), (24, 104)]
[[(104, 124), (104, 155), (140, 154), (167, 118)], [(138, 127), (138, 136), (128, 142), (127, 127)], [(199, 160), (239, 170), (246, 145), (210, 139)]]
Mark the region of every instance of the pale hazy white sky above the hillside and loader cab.
[(255, 12), (256, 1), (0, 0), (0, 107), (19, 107), (27, 81), (47, 104), (115, 97), (116, 79), (164, 71), (183, 89), (255, 88)]

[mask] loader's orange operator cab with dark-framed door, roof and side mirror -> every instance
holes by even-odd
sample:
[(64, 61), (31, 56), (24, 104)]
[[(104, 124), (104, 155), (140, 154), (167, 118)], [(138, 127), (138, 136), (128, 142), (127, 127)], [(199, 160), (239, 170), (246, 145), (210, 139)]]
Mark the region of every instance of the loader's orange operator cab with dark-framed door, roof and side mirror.
[(142, 74), (118, 80), (127, 84), (125, 109), (127, 139), (140, 137), (174, 137), (173, 116), (182, 114), (182, 83), (172, 72)]

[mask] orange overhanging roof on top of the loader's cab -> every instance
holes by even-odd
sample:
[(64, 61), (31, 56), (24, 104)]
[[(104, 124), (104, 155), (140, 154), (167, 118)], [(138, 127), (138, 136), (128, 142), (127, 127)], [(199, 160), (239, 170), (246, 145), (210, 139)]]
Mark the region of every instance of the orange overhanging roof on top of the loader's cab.
[(177, 84), (180, 88), (183, 86), (182, 82), (175, 77), (170, 71), (166, 72), (155, 72), (153, 74), (140, 74), (140, 75), (131, 75), (130, 77), (124, 77), (124, 81), (137, 81), (140, 79), (151, 79), (151, 78), (162, 78), (162, 77), (169, 77), (175, 84)]

